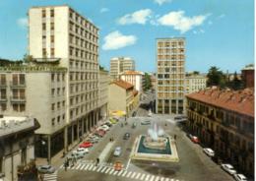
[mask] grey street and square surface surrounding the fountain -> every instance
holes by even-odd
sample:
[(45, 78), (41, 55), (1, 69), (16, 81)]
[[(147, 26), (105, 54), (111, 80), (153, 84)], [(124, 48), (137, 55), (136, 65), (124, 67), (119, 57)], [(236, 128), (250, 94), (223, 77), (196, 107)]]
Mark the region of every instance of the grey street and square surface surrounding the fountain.
[[(141, 125), (143, 120), (155, 121), (166, 134), (172, 137), (176, 135), (179, 162), (130, 159), (130, 153), (136, 137), (141, 134), (147, 134), (151, 126)], [(192, 143), (186, 134), (175, 125), (173, 120), (173, 117), (170, 115), (153, 114), (152, 117), (148, 117), (148, 111), (140, 107), (135, 117), (127, 119), (128, 125), (121, 127), (121, 123), (124, 124), (124, 118), (120, 119), (118, 124), (112, 126), (99, 143), (90, 149), (90, 153), (83, 159), (79, 159), (73, 167), (69, 167), (65, 171), (63, 166), (60, 166), (58, 169), (58, 180), (233, 180), (231, 176), (221, 169), (220, 165), (202, 151), (199, 145)], [(137, 123), (136, 128), (132, 128), (133, 123)], [(131, 134), (128, 140), (123, 140), (125, 133)], [(110, 138), (114, 138), (112, 147), (105, 154), (105, 160), (100, 160), (100, 163), (96, 166), (96, 158), (104, 151), (106, 145), (110, 143)], [(122, 148), (120, 156), (113, 155), (116, 147)], [(121, 171), (113, 169), (115, 161), (123, 163), (124, 167)]]

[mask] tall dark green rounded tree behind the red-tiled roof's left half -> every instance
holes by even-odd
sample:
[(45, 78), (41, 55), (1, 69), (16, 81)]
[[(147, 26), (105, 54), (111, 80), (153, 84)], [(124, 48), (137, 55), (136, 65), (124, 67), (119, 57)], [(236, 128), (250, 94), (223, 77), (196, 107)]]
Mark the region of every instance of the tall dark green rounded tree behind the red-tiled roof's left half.
[(207, 74), (208, 81), (207, 86), (218, 86), (221, 88), (224, 88), (226, 86), (225, 76), (223, 71), (220, 71), (219, 68), (213, 66), (209, 69), (209, 72)]

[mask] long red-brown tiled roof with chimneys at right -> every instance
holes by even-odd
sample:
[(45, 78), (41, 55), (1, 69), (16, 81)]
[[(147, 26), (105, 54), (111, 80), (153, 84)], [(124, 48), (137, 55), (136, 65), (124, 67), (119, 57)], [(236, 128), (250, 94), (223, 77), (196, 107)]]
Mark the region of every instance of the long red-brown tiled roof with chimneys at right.
[(186, 95), (188, 98), (254, 117), (254, 90), (219, 90), (212, 88)]

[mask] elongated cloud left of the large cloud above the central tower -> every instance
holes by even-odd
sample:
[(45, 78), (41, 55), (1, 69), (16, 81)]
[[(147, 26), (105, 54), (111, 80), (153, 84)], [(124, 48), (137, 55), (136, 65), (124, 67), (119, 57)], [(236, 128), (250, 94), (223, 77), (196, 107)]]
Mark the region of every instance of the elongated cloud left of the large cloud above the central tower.
[(151, 18), (152, 10), (143, 9), (136, 11), (132, 14), (127, 14), (121, 17), (117, 23), (120, 25), (130, 25), (130, 24), (141, 24), (145, 25), (146, 22)]

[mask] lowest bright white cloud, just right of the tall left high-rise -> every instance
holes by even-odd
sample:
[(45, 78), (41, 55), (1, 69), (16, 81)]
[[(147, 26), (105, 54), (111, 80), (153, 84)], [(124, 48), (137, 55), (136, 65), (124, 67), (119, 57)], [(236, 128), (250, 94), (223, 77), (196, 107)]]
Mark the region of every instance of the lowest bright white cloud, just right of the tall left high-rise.
[(135, 35), (124, 35), (118, 30), (112, 31), (104, 37), (103, 50), (114, 50), (135, 44), (137, 37)]

